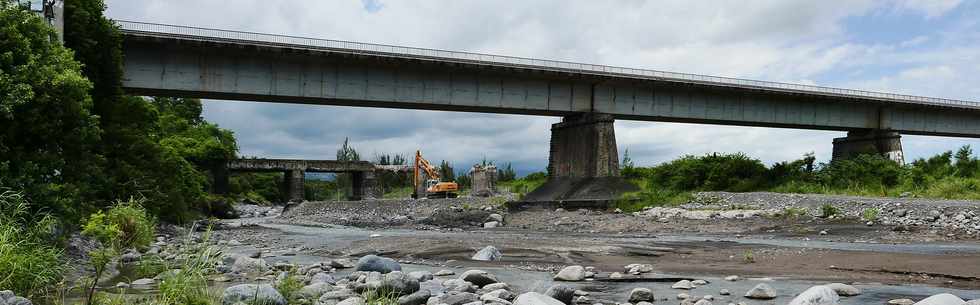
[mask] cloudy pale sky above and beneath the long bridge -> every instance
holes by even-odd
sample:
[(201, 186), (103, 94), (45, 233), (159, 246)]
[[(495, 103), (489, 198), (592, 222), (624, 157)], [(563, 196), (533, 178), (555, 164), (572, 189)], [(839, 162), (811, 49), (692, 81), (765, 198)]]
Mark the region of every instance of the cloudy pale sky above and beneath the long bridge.
[[(107, 0), (114, 19), (569, 60), (980, 100), (980, 1)], [(205, 102), (241, 154), (332, 159), (412, 154), (462, 169), (486, 158), (543, 170), (558, 118), (256, 102)], [(842, 132), (618, 121), (640, 165), (745, 152), (830, 158)], [(980, 147), (905, 136), (906, 158)]]

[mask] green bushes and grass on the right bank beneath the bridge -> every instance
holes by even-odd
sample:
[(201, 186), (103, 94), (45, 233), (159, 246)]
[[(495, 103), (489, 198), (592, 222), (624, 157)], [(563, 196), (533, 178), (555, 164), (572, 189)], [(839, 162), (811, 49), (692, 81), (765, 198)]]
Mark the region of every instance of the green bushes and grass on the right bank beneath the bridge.
[[(697, 191), (772, 191), (863, 196), (914, 196), (940, 199), (980, 199), (980, 160), (970, 146), (899, 165), (883, 156), (814, 164), (813, 155), (765, 166), (744, 154), (684, 156), (653, 167), (629, 164), (622, 174), (640, 187), (624, 194), (617, 207), (635, 211), (647, 206), (686, 202)], [(628, 162), (632, 163), (632, 161)], [(821, 210), (824, 217), (839, 213)]]

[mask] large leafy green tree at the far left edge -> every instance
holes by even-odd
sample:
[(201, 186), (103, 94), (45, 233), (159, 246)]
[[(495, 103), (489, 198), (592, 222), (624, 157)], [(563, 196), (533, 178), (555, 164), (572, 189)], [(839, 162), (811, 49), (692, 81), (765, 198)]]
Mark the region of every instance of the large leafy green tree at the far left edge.
[(39, 16), (0, 6), (0, 187), (22, 190), (31, 214), (77, 218), (104, 159), (92, 83)]

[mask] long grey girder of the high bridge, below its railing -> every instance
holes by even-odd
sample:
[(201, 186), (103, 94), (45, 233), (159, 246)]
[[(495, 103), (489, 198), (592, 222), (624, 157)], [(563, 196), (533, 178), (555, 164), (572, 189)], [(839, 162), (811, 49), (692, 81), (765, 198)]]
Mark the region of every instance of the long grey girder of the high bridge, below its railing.
[(127, 35), (124, 88), (210, 99), (980, 137), (980, 111)]

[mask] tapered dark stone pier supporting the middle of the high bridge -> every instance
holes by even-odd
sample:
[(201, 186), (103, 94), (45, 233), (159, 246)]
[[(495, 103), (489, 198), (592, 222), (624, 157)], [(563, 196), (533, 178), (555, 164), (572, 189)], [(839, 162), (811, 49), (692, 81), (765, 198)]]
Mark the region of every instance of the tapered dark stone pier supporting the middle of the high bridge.
[(549, 179), (618, 177), (613, 122), (608, 114), (583, 113), (551, 125)]

